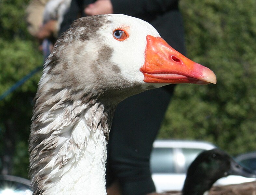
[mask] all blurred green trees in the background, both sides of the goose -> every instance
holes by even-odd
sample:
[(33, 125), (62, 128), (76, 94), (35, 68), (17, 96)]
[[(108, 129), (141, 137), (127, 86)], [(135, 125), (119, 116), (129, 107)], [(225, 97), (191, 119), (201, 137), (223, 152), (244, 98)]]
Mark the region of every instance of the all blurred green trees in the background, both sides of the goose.
[[(29, 0), (0, 0), (0, 94), (42, 65), (26, 30)], [(256, 1), (181, 0), (187, 57), (216, 85), (177, 85), (159, 138), (210, 141), (232, 155), (256, 150)], [(0, 101), (0, 174), (27, 178), (33, 98), (41, 72)]]

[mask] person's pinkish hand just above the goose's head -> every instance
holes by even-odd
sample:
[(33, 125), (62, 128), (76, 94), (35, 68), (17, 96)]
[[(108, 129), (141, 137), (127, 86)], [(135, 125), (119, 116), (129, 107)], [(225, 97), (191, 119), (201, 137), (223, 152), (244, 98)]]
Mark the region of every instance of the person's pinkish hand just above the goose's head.
[(92, 4), (89, 4), (84, 12), (88, 16), (113, 14), (113, 6), (110, 0), (97, 0)]

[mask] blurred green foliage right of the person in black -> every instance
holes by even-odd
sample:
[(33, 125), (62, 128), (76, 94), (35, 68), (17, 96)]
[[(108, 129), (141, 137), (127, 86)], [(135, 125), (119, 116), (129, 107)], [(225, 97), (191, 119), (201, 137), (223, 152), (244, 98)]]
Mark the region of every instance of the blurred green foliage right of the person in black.
[(178, 85), (159, 137), (213, 142), (231, 154), (256, 150), (256, 1), (181, 0), (187, 56), (216, 85)]

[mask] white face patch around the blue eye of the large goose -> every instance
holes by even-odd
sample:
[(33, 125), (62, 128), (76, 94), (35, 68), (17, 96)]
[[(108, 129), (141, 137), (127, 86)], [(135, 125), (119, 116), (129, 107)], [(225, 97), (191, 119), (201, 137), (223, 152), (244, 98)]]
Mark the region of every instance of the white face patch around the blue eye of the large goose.
[(114, 32), (115, 29), (120, 28), (125, 29), (128, 33), (126, 40), (118, 41), (113, 38), (112, 33), (100, 32), (106, 36), (105, 40), (108, 45), (114, 48), (111, 60), (119, 65), (124, 78), (131, 82), (140, 82), (144, 85), (143, 74), (139, 70), (145, 62), (146, 36), (160, 37), (159, 33), (148, 22), (138, 18), (113, 14), (109, 19), (112, 24), (106, 30)]

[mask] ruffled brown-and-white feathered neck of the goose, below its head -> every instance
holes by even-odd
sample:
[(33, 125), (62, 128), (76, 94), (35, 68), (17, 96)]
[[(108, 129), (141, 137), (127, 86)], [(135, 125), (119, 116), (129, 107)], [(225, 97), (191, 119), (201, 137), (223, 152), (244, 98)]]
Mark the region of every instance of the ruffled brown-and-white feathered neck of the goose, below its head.
[(29, 146), (33, 195), (106, 194), (106, 145), (114, 106), (86, 99), (37, 99)]

